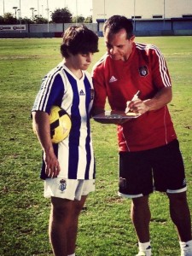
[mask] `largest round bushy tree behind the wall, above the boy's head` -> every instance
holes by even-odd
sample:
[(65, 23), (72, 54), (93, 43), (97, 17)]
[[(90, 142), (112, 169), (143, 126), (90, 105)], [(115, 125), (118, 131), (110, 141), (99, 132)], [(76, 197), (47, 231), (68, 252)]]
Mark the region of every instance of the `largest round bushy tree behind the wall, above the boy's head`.
[(54, 23), (71, 23), (72, 14), (67, 7), (63, 9), (55, 9), (51, 14), (51, 19)]

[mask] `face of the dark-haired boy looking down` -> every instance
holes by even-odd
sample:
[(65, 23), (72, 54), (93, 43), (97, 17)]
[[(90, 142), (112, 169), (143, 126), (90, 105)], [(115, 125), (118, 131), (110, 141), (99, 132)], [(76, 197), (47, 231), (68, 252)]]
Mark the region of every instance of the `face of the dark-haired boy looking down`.
[(73, 67), (73, 69), (81, 69), (86, 70), (92, 61), (93, 53), (87, 53), (87, 54), (77, 54), (77, 55), (70, 55), (67, 58), (67, 62), (70, 62), (70, 65)]

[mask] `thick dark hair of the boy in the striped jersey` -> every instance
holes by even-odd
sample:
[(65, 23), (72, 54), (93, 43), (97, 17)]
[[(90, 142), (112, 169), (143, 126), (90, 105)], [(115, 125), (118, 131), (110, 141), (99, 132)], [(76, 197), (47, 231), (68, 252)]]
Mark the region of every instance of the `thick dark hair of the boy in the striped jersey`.
[(86, 26), (70, 26), (63, 34), (61, 55), (65, 58), (72, 55), (95, 53), (98, 51), (98, 37)]

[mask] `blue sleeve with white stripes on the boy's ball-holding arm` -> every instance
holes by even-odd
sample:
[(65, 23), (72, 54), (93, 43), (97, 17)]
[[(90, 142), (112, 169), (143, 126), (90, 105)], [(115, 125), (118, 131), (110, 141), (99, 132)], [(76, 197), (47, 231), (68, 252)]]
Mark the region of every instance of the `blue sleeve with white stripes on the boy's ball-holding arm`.
[(44, 77), (41, 88), (38, 91), (35, 102), (32, 107), (33, 111), (44, 111), (50, 113), (53, 105), (61, 106), (64, 95), (64, 84), (60, 73), (48, 74)]

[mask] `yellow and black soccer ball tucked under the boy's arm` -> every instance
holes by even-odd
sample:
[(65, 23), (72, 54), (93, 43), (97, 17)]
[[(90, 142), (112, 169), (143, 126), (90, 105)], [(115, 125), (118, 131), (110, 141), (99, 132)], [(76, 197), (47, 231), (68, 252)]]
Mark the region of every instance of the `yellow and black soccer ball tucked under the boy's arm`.
[(61, 143), (71, 131), (72, 122), (69, 115), (64, 109), (53, 106), (50, 109), (49, 122), (52, 143)]

